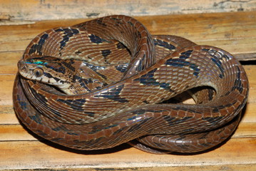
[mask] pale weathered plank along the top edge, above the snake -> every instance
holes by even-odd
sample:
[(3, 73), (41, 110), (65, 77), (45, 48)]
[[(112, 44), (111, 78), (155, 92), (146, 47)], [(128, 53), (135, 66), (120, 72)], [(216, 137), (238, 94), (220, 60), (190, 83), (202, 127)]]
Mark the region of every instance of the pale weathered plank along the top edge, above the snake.
[[(164, 14), (252, 11), (256, 8), (255, 2), (255, 0), (195, 0), (193, 3), (190, 0), (1, 0), (0, 19), (2, 21), (78, 18), (88, 19), (91, 17), (100, 17), (111, 14), (125, 14), (129, 16), (153, 16)], [(3, 23), (6, 24), (6, 22)]]

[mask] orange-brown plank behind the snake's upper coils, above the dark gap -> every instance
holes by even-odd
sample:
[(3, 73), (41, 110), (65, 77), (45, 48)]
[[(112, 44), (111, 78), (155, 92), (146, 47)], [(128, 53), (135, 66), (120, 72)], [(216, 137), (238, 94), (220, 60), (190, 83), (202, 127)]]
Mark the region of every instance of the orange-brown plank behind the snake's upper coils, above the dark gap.
[[(256, 11), (143, 16), (136, 19), (152, 34), (173, 34), (195, 43), (218, 46), (241, 60), (252, 60), (256, 56)], [(31, 39), (39, 33), (49, 28), (72, 26), (83, 21), (86, 20), (38, 21), (21, 26), (1, 26), (0, 52), (24, 51)]]

